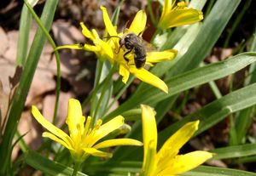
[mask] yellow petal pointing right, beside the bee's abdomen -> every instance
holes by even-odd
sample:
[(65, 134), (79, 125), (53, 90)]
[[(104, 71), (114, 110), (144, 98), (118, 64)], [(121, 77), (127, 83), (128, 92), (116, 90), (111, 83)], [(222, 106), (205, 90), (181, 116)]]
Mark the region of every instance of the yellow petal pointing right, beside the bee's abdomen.
[(173, 60), (177, 55), (176, 49), (168, 49), (165, 51), (154, 51), (147, 53), (147, 62), (156, 63), (165, 60)]

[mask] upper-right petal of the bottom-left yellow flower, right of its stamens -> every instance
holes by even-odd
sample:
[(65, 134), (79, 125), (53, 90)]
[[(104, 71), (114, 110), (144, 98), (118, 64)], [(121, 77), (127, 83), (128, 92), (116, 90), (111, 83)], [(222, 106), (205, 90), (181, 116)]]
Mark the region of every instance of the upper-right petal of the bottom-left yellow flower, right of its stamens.
[(95, 144), (96, 141), (102, 139), (108, 133), (113, 132), (113, 130), (120, 128), (124, 124), (125, 118), (123, 116), (116, 116), (110, 121), (104, 123), (99, 129), (96, 130), (95, 136), (91, 144)]

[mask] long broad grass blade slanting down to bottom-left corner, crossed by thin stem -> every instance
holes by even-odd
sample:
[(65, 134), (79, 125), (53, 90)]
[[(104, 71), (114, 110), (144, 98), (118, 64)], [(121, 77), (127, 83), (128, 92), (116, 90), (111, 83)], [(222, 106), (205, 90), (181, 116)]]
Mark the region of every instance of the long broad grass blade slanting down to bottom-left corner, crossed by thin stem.
[[(51, 26), (55, 8), (58, 1), (47, 1), (44, 5), (43, 14), (41, 17), (42, 23), (49, 31)], [(26, 95), (30, 88), (32, 77), (38, 65), (38, 60), (42, 53), (46, 37), (41, 29), (36, 32), (35, 38), (32, 42), (32, 47), (26, 59), (24, 71), (20, 77), (20, 84), (16, 89), (14, 98), (9, 109), (9, 118), (3, 135), (3, 140), (0, 145), (0, 158), (2, 158), (2, 169), (0, 175), (5, 175), (10, 172), (10, 156), (11, 156), (11, 143), (14, 138), (15, 131), (20, 120), (20, 115), (26, 101)]]

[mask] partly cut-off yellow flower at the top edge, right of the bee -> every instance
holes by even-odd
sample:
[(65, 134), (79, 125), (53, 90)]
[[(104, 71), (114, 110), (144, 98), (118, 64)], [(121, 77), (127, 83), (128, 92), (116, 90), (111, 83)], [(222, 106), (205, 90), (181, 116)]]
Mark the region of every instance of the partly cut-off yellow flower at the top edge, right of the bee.
[(187, 8), (187, 3), (183, 1), (177, 5), (175, 3), (176, 0), (165, 0), (158, 25), (161, 29), (189, 25), (203, 20), (203, 14), (200, 10)]

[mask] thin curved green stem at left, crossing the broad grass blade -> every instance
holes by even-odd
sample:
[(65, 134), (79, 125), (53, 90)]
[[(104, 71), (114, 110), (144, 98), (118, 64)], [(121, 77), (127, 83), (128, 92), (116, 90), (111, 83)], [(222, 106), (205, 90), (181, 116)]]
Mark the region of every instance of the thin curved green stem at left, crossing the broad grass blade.
[[(24, 1), (24, 3), (26, 4), (27, 9), (32, 14), (32, 17), (37, 22), (40, 29), (44, 32), (44, 35), (47, 37), (52, 48), (56, 48), (54, 40), (52, 39), (52, 37), (50, 37), (49, 32), (45, 29), (41, 20), (38, 18), (38, 15), (32, 9), (32, 6), (29, 3), (27, 3), (26, 0)], [(59, 106), (59, 99), (60, 99), (60, 92), (61, 92), (61, 61), (60, 61), (60, 55), (57, 50), (55, 50), (55, 59), (56, 59), (56, 67), (57, 67), (57, 79), (56, 79), (55, 112), (54, 112), (54, 117), (53, 117), (54, 124), (55, 124), (56, 118), (57, 118), (57, 110), (58, 110), (58, 106)]]

